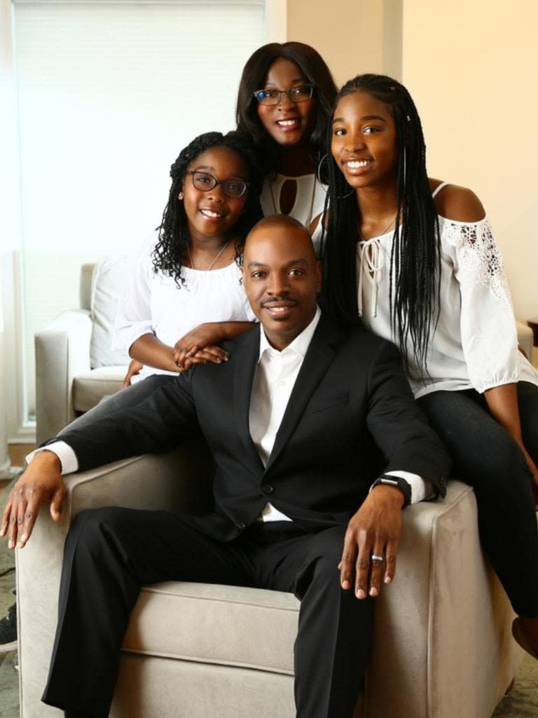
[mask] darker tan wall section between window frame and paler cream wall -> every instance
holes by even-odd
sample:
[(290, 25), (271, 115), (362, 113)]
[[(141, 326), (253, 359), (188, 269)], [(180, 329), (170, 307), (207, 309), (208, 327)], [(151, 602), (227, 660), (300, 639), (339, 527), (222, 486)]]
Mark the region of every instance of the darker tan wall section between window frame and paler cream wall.
[(359, 73), (400, 78), (402, 0), (288, 0), (288, 39), (323, 55), (339, 85)]

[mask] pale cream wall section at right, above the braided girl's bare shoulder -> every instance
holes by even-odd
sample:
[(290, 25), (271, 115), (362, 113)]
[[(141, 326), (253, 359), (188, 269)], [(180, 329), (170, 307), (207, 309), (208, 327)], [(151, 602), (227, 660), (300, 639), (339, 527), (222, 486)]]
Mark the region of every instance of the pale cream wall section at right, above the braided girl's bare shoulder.
[(516, 315), (538, 316), (538, 3), (404, 0), (402, 78), (430, 175), (481, 197)]

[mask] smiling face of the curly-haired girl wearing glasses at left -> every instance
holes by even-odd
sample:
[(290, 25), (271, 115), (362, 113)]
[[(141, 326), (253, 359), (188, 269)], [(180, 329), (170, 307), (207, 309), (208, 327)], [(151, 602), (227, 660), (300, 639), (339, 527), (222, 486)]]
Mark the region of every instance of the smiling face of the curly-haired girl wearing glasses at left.
[[(187, 172), (195, 171), (212, 174), (217, 180), (249, 179), (247, 165), (242, 157), (223, 146), (210, 147), (199, 154), (187, 167)], [(183, 200), (191, 240), (220, 238), (227, 241), (245, 208), (247, 193), (248, 189), (242, 197), (227, 197), (222, 191), (222, 185), (203, 192), (192, 184), (192, 175), (186, 175), (179, 199)]]

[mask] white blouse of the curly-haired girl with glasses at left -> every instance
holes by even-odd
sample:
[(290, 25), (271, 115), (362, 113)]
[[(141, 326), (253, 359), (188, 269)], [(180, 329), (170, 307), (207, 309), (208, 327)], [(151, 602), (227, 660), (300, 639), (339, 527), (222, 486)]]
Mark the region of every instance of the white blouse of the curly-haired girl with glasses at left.
[[(115, 320), (114, 349), (124, 350), (128, 355), (133, 342), (148, 333), (173, 347), (204, 322), (256, 321), (235, 262), (211, 271), (182, 267), (185, 283), (178, 288), (173, 277), (161, 271), (154, 273), (151, 254), (155, 243), (153, 236), (143, 246), (123, 290)], [(171, 373), (144, 366), (137, 381), (151, 374)]]

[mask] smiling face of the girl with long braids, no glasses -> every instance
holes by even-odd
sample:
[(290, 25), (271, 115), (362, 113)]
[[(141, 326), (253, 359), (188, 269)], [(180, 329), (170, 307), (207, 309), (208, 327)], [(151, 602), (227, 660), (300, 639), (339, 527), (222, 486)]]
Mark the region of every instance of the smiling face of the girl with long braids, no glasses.
[(390, 106), (365, 92), (341, 98), (333, 116), (331, 152), (351, 187), (394, 185), (397, 137)]

